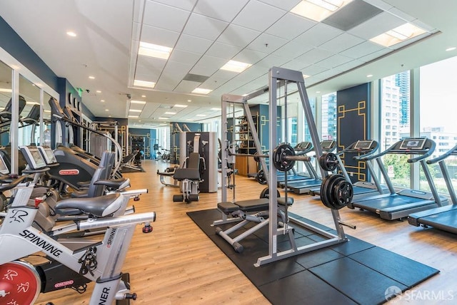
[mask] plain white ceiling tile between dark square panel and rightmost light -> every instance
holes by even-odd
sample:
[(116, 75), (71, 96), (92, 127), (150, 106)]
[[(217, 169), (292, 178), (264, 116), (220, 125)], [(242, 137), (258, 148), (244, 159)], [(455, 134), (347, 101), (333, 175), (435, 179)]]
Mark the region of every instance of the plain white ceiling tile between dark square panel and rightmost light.
[(392, 14), (383, 12), (374, 16), (372, 19), (363, 22), (363, 24), (350, 29), (348, 33), (368, 40), (381, 33), (395, 29), (397, 26), (401, 26), (402, 24), (405, 24), (403, 19), (399, 19)]

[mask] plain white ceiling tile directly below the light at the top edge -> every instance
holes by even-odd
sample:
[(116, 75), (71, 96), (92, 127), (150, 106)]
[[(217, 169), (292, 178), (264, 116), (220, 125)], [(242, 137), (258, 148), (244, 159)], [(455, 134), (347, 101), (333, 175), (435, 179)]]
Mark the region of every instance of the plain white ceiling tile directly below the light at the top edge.
[[(283, 1), (281, 1), (282, 3)], [(291, 40), (317, 24), (296, 14), (287, 13), (270, 26), (266, 33)]]

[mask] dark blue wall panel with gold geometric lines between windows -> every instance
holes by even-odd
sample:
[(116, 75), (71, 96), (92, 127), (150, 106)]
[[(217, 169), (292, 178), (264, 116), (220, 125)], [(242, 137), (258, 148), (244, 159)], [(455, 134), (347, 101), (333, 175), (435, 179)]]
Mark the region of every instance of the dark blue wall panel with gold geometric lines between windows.
[[(371, 83), (347, 88), (336, 93), (336, 127), (338, 132), (338, 151), (357, 140), (370, 140)], [(369, 181), (368, 170), (363, 162), (357, 163), (353, 155), (343, 155), (348, 174), (353, 182)]]

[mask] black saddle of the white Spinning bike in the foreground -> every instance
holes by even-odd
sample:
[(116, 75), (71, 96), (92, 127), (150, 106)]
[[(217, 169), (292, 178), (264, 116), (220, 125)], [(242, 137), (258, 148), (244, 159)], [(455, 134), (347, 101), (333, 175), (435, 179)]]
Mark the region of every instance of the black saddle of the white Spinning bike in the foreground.
[(63, 216), (91, 214), (95, 217), (106, 217), (113, 214), (122, 205), (119, 193), (94, 198), (69, 198), (56, 204), (56, 214)]

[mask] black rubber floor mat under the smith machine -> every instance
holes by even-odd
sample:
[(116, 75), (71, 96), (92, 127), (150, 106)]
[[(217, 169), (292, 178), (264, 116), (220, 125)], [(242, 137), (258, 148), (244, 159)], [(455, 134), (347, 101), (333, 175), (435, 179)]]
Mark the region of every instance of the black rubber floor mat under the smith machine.
[[(348, 242), (254, 267), (258, 257), (268, 254), (268, 226), (243, 239), (240, 243), (244, 251), (236, 253), (211, 226), (214, 220), (221, 219), (218, 210), (187, 214), (272, 304), (381, 304), (392, 293), (410, 289), (439, 272), (355, 237), (348, 237)], [(332, 230), (303, 217), (297, 218)], [(236, 234), (252, 225), (248, 224)], [(219, 227), (231, 226), (233, 223)], [(302, 227), (296, 227), (294, 237), (298, 247), (323, 239)], [(286, 237), (278, 237), (278, 249), (286, 247)]]

